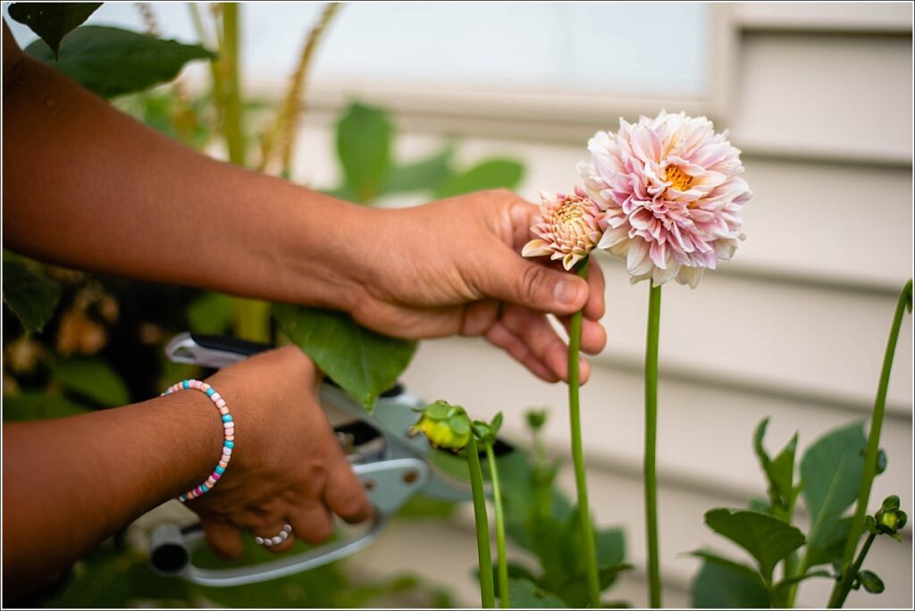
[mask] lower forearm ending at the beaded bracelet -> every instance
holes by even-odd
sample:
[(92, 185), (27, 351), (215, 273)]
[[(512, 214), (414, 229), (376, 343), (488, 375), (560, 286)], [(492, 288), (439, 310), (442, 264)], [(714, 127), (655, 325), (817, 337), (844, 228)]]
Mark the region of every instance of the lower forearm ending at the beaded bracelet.
[(3, 427), (4, 583), (13, 597), (140, 515), (197, 486), (221, 421), (196, 391)]

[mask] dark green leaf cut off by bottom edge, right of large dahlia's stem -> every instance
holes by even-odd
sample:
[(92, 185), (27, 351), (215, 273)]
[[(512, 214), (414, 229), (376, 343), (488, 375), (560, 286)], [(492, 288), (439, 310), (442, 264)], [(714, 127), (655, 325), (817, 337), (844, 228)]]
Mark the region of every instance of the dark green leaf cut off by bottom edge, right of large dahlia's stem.
[(769, 594), (759, 573), (714, 554), (701, 557), (705, 562), (690, 584), (692, 606), (699, 609), (770, 608)]

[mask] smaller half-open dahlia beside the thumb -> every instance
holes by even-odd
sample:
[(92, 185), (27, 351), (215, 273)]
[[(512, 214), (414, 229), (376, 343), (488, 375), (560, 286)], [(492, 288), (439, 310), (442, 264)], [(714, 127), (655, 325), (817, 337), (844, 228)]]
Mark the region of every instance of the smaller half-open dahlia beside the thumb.
[(571, 270), (600, 240), (600, 208), (580, 187), (572, 195), (541, 192), (540, 200), (540, 214), (531, 228), (537, 239), (524, 244), (522, 256), (549, 254)]

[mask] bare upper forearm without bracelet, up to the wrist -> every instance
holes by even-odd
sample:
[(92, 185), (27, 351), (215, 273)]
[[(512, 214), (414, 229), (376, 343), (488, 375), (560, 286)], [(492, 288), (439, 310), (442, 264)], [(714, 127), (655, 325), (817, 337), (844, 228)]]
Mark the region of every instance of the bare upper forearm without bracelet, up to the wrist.
[(5, 75), (5, 245), (101, 273), (349, 309), (360, 207), (201, 155), (31, 59)]

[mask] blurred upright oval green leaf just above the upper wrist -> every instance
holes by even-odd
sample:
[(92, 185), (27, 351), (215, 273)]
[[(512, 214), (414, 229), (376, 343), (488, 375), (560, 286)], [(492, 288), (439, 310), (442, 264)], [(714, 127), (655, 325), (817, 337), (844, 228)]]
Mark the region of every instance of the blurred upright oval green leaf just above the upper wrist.
[(391, 172), (393, 126), (378, 108), (350, 104), (337, 123), (337, 155), (346, 177), (344, 189), (366, 203), (382, 192)]

